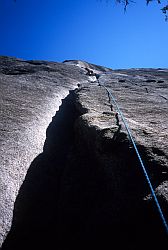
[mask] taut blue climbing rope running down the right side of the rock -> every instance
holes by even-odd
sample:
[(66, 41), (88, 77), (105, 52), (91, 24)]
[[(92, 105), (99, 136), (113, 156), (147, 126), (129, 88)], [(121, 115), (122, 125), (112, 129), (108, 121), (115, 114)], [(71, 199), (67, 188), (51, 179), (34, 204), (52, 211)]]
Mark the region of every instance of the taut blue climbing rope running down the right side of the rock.
[(125, 118), (124, 118), (124, 115), (123, 115), (123, 113), (122, 113), (120, 107), (118, 106), (117, 101), (115, 100), (114, 96), (112, 95), (111, 91), (110, 91), (106, 86), (104, 86), (104, 84), (100, 84), (100, 85), (103, 86), (103, 87), (106, 89), (106, 91), (108, 92), (109, 96), (111, 97), (112, 101), (114, 102), (114, 104), (115, 104), (115, 106), (116, 106), (116, 108), (117, 108), (117, 110), (118, 110), (119, 115), (121, 116), (121, 118), (122, 118), (122, 120), (123, 120), (123, 123), (124, 123), (124, 125), (125, 125), (125, 128), (126, 128), (126, 130), (127, 130), (127, 132), (128, 132), (129, 138), (130, 138), (130, 140), (131, 140), (131, 142), (132, 142), (132, 144), (133, 144), (133, 147), (134, 147), (134, 149), (135, 149), (135, 151), (136, 151), (136, 154), (137, 154), (138, 159), (139, 159), (139, 161), (140, 161), (140, 164), (141, 164), (141, 166), (142, 166), (143, 172), (144, 172), (145, 177), (146, 177), (146, 179), (147, 179), (147, 182), (148, 182), (148, 184), (149, 184), (149, 187), (150, 187), (152, 196), (153, 196), (153, 198), (154, 198), (154, 200), (155, 200), (155, 203), (156, 203), (156, 206), (157, 206), (157, 208), (158, 208), (158, 212), (159, 212), (159, 214), (160, 214), (161, 220), (162, 220), (162, 222), (163, 222), (163, 224), (164, 224), (166, 233), (167, 233), (167, 235), (168, 235), (168, 224), (167, 224), (167, 222), (166, 222), (166, 219), (165, 219), (165, 217), (164, 217), (164, 214), (163, 214), (163, 212), (162, 212), (162, 209), (161, 209), (161, 207), (160, 207), (160, 205), (159, 205), (159, 201), (158, 201), (158, 199), (157, 199), (157, 197), (156, 197), (155, 191), (154, 191), (154, 189), (153, 189), (153, 186), (152, 186), (151, 181), (150, 181), (150, 179), (149, 179), (148, 173), (147, 173), (147, 171), (146, 171), (146, 169), (145, 169), (145, 166), (144, 166), (144, 164), (143, 164), (142, 158), (141, 158), (141, 156), (140, 156), (140, 154), (139, 154), (139, 151), (138, 151), (138, 149), (137, 149), (137, 146), (136, 146), (136, 144), (135, 144), (135, 141), (134, 141), (134, 139), (133, 139), (133, 137), (132, 137), (132, 133), (131, 133), (131, 131), (130, 131), (130, 129), (129, 129), (129, 126), (128, 126), (128, 124), (127, 124)]

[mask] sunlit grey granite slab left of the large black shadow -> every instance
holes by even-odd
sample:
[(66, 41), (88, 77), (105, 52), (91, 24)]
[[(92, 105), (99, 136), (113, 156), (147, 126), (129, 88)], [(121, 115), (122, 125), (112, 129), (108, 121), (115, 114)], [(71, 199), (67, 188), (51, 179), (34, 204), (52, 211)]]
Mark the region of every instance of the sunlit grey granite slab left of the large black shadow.
[(14, 200), (61, 100), (87, 81), (72, 65), (0, 57), (0, 243)]

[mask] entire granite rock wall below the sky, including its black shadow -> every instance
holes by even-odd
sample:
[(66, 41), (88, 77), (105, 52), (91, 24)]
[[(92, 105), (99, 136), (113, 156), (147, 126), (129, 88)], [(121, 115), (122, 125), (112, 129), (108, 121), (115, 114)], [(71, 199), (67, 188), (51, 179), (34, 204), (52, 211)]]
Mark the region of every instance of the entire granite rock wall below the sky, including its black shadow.
[(164, 249), (143, 171), (102, 85), (168, 219), (168, 70), (1, 57), (0, 72), (1, 242), (12, 221), (2, 249)]

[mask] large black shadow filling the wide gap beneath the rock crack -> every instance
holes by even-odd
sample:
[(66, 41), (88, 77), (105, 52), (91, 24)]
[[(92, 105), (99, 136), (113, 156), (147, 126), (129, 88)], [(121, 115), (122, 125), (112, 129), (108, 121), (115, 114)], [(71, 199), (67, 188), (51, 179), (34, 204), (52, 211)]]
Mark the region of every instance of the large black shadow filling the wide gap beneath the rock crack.
[(164, 249), (157, 211), (142, 200), (146, 186), (137, 159), (126, 147), (112, 158), (100, 152), (102, 161), (95, 159), (74, 131), (80, 115), (74, 99), (71, 91), (47, 129), (43, 153), (19, 190), (2, 249), (140, 250), (155, 249), (156, 243)]

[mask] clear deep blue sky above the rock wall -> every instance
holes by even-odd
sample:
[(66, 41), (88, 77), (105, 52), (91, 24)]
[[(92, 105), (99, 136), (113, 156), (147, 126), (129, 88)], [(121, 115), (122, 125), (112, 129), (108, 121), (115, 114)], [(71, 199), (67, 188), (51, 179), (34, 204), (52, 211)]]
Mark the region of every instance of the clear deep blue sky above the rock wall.
[(115, 0), (0, 0), (0, 55), (166, 68), (168, 22), (161, 7), (137, 0), (124, 14)]

